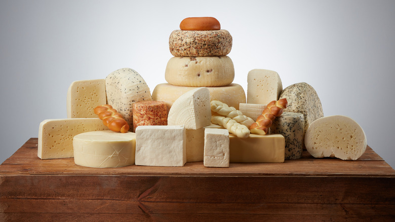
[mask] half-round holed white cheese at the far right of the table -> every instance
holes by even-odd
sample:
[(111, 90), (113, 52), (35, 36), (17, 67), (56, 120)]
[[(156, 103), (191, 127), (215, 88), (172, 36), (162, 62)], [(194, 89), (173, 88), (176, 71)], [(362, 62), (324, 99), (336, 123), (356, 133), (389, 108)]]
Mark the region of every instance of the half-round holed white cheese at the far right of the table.
[(367, 140), (362, 127), (351, 118), (329, 116), (310, 124), (304, 144), (315, 158), (357, 160), (365, 153)]

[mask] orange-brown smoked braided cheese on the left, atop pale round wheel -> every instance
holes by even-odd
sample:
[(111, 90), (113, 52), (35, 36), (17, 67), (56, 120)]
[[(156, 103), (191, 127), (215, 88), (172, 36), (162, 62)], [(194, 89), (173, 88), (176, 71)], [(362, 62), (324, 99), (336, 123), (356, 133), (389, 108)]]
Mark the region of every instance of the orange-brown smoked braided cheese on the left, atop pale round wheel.
[(104, 126), (114, 132), (126, 133), (129, 131), (128, 122), (111, 105), (99, 105), (93, 112), (103, 121)]

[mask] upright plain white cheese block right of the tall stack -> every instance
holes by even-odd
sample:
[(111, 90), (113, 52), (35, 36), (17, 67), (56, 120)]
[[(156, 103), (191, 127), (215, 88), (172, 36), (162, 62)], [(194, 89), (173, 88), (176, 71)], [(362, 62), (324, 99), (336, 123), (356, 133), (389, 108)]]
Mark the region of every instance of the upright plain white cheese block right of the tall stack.
[(247, 75), (247, 103), (267, 105), (278, 100), (283, 83), (277, 72), (267, 69), (252, 69)]

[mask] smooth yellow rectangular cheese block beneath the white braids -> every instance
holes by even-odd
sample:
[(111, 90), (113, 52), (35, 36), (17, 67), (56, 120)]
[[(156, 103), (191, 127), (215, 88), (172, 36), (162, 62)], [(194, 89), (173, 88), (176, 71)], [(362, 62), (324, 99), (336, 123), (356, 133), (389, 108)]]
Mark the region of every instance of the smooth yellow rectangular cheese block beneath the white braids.
[(229, 134), (230, 163), (283, 163), (285, 138), (281, 134), (250, 134), (239, 138)]

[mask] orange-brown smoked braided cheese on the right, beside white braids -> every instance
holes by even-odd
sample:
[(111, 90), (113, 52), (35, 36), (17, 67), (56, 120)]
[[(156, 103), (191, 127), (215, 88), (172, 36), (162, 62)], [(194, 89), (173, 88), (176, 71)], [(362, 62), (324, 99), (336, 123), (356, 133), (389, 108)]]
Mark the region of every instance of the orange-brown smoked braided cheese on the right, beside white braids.
[(287, 108), (288, 101), (286, 98), (280, 99), (278, 101), (271, 101), (267, 104), (267, 107), (263, 110), (262, 115), (260, 115), (255, 123), (250, 127), (251, 133), (266, 135), (269, 132), (269, 128), (276, 117), (280, 117), (284, 109)]

